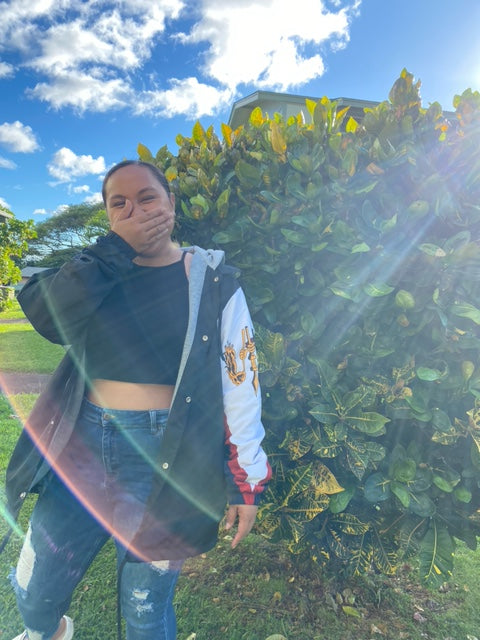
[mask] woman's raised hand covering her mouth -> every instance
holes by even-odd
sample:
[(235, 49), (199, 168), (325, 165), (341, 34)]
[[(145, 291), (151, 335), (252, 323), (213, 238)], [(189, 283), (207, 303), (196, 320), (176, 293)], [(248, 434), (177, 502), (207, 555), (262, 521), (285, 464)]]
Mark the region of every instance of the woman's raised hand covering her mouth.
[(122, 207), (110, 210), (110, 228), (141, 255), (149, 251), (154, 244), (170, 237), (173, 231), (175, 215), (171, 209), (134, 208), (126, 199)]

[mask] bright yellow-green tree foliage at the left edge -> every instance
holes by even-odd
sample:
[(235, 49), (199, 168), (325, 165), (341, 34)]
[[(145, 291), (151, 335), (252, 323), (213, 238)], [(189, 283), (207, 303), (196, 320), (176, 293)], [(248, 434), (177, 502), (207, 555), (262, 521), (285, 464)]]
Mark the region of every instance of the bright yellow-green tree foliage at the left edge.
[(7, 287), (20, 281), (22, 274), (16, 263), (28, 249), (28, 240), (35, 237), (33, 221), (17, 220), (7, 209), (0, 208), (9, 214), (4, 222), (0, 222), (0, 310), (8, 299)]

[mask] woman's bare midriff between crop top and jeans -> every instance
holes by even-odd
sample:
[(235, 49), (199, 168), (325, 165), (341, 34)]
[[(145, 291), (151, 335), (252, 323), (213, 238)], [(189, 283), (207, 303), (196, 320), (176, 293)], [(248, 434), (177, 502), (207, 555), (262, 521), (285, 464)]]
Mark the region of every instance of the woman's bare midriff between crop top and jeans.
[(167, 384), (138, 384), (96, 379), (92, 381), (87, 397), (93, 404), (107, 409), (148, 411), (169, 409), (173, 389), (173, 385)]

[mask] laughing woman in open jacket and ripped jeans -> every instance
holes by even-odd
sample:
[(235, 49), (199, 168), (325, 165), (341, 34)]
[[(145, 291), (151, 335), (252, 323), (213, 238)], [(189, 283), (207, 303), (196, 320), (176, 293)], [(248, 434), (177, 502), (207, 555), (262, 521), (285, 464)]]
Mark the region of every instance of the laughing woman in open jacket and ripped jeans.
[(128, 640), (172, 640), (184, 559), (214, 546), (227, 502), (235, 547), (270, 475), (237, 274), (223, 252), (172, 241), (174, 196), (153, 165), (114, 166), (102, 193), (110, 232), (19, 294), (70, 348), (7, 472), (13, 517), (39, 493), (12, 579), (18, 639), (70, 640), (72, 592), (113, 536)]

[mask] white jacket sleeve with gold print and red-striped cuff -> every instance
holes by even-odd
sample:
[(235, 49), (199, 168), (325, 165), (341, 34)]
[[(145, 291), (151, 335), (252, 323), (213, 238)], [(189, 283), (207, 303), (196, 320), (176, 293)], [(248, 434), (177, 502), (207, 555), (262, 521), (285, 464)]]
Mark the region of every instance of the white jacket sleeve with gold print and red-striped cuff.
[(271, 476), (261, 447), (265, 430), (253, 325), (245, 295), (238, 288), (221, 319), (225, 464), (230, 504), (256, 504)]

